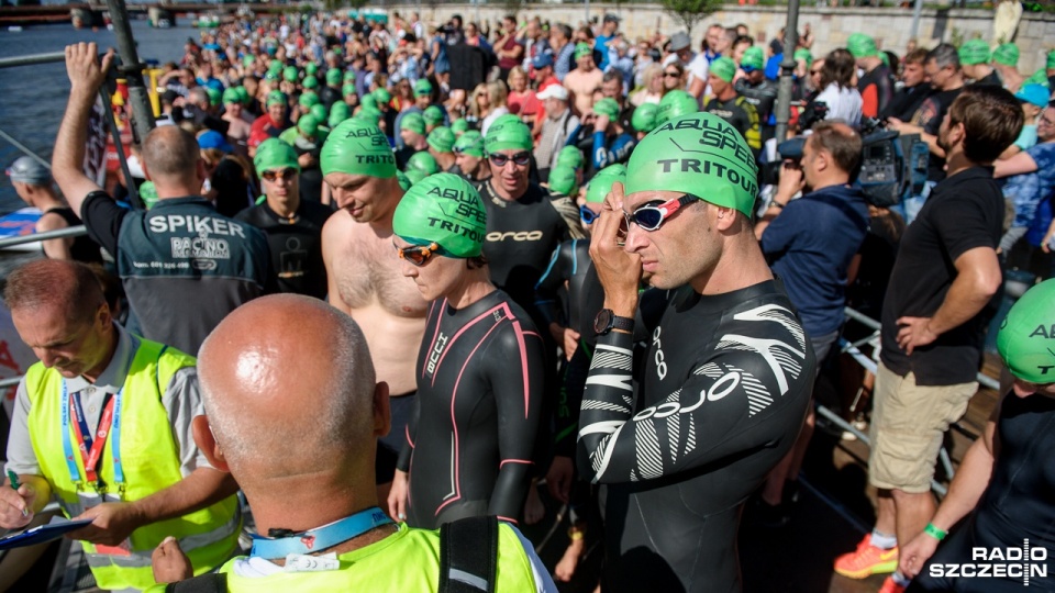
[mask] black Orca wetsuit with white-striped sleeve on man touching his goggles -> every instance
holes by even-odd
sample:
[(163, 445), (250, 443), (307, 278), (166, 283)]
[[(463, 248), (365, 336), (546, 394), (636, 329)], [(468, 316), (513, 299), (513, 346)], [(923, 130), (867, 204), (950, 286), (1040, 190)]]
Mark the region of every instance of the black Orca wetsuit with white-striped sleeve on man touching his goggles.
[(774, 281), (708, 296), (682, 287), (645, 328), (643, 367), (633, 336), (598, 338), (578, 469), (609, 484), (612, 591), (741, 589), (741, 506), (795, 444), (813, 385), (792, 311)]

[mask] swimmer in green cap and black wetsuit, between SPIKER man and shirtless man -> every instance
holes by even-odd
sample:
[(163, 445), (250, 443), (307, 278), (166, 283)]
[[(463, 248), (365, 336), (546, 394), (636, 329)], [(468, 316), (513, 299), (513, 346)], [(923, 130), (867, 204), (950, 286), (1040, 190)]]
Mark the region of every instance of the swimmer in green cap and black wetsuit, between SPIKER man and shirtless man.
[(333, 209), (301, 199), (297, 150), (285, 142), (267, 138), (260, 143), (253, 165), (260, 176), (265, 200), (243, 210), (234, 220), (267, 235), (279, 292), (324, 299), (326, 266), (322, 261), (322, 227)]

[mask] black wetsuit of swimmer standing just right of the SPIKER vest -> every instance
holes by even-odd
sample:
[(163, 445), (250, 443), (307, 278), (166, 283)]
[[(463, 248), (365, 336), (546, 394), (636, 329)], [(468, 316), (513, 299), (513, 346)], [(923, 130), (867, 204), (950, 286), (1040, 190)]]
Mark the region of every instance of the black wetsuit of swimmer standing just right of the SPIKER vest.
[(235, 220), (264, 231), (279, 292), (323, 299), (326, 267), (322, 262), (322, 226), (331, 214), (333, 209), (327, 205), (301, 200), (291, 221), (276, 214), (267, 202), (243, 210)]

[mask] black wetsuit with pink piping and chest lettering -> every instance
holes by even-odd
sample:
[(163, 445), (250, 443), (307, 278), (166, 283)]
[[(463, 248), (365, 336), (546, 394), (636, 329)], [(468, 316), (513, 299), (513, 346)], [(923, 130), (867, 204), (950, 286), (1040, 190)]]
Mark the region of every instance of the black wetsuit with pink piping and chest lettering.
[(410, 473), (408, 524), (517, 521), (542, 410), (542, 350), (528, 315), (500, 290), (462, 310), (433, 301), (398, 465)]

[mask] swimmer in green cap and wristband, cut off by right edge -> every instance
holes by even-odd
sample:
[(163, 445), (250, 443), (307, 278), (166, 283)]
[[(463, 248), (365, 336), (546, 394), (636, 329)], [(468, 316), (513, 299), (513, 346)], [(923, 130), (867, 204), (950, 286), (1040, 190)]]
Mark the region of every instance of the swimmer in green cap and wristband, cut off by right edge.
[[(1055, 580), (1055, 280), (1030, 289), (1008, 312), (997, 347), (1014, 385), (993, 411), (926, 529), (901, 548), (908, 591), (1052, 591)], [(948, 541), (946, 532), (964, 517)], [(1018, 561), (995, 550), (1029, 550)], [(935, 553), (935, 548), (937, 549)], [(975, 550), (985, 550), (979, 559)], [(992, 564), (982, 575), (978, 564)], [(996, 572), (1004, 573), (1002, 578)], [(1044, 574), (1039, 574), (1043, 571)], [(958, 575), (956, 574), (958, 573)]]

